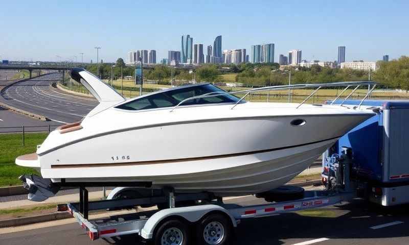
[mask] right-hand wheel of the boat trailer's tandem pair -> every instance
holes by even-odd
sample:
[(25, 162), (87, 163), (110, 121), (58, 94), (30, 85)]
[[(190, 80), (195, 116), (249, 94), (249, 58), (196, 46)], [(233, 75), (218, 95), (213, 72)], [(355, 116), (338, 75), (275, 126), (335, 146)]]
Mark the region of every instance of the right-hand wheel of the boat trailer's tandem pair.
[(210, 214), (202, 219), (197, 228), (197, 243), (202, 245), (225, 245), (233, 234), (231, 221), (221, 214)]

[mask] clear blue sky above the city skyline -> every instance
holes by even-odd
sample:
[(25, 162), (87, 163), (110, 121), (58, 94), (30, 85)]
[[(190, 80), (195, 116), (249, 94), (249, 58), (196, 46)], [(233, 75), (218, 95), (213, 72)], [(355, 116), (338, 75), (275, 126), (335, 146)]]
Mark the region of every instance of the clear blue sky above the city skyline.
[[(376, 61), (409, 55), (409, 1), (2, 1), (0, 59), (113, 62), (131, 50), (180, 51), (190, 34), (203, 52), (275, 43), (275, 61), (292, 49), (306, 60)], [(205, 54), (206, 55), (206, 54)], [(62, 58), (58, 58), (60, 56)]]

